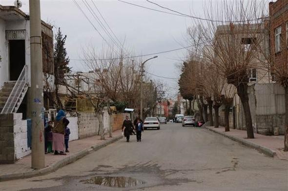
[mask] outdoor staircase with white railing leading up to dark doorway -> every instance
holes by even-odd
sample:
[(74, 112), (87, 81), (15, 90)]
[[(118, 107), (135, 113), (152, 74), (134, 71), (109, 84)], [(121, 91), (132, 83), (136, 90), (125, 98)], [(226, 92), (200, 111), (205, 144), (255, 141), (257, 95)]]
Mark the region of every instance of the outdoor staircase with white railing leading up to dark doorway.
[(16, 82), (4, 83), (0, 91), (1, 114), (16, 113), (28, 90), (28, 66), (25, 65)]

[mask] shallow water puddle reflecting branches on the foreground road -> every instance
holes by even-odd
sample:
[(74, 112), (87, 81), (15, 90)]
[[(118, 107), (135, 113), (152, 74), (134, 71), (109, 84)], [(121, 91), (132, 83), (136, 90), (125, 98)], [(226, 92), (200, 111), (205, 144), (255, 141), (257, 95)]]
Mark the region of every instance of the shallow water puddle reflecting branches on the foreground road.
[(97, 184), (101, 186), (127, 188), (142, 185), (145, 182), (124, 176), (95, 176), (90, 179), (81, 180), (84, 184)]

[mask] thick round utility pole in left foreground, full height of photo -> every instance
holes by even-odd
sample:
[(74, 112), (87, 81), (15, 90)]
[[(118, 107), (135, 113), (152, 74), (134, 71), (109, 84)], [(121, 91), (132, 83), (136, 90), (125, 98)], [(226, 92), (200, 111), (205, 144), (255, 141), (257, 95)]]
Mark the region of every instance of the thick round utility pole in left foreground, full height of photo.
[(45, 167), (44, 152), (44, 116), (43, 109), (43, 73), (41, 47), (40, 0), (29, 0), (30, 10), (30, 58), (31, 88), (30, 108), (32, 122), (32, 168)]

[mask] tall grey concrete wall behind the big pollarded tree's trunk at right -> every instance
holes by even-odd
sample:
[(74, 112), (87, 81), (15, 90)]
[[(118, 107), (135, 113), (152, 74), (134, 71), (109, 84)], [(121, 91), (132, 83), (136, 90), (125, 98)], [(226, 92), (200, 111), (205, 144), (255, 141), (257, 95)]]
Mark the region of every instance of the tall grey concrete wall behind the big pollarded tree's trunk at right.
[[(275, 83), (249, 86), (249, 105), (255, 133), (273, 134), (274, 128), (279, 127), (279, 133), (284, 134), (284, 93), (284, 88)], [(236, 128), (246, 130), (244, 110), (238, 96), (234, 98), (234, 106)]]

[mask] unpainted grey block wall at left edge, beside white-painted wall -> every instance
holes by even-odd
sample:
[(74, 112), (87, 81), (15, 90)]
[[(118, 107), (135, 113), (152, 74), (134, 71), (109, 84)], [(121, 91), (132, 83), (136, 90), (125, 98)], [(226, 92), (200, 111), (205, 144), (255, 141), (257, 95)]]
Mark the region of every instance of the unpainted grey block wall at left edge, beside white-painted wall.
[(0, 114), (0, 164), (14, 163), (13, 114)]

